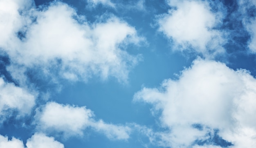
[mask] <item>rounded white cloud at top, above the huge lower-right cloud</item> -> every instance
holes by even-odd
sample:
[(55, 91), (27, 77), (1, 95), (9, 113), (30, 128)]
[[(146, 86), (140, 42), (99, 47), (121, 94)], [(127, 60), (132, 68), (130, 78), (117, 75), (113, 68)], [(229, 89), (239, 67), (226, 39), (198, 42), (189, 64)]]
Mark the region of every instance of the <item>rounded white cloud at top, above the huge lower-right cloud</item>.
[[(169, 0), (173, 7), (158, 18), (162, 31), (175, 44), (174, 50), (195, 51), (205, 57), (224, 53), (224, 33), (214, 29), (222, 21), (220, 12), (213, 13), (207, 1)], [(175, 9), (174, 9), (175, 8)], [(192, 49), (191, 49), (192, 48)]]

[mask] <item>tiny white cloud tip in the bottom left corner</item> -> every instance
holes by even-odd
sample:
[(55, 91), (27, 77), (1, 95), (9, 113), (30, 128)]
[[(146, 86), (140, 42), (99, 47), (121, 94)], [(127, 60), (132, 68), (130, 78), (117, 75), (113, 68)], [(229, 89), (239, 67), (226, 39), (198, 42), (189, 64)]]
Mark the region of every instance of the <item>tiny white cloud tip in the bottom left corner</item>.
[(19, 139), (12, 137), (11, 140), (8, 140), (8, 137), (0, 135), (0, 148), (24, 148), (24, 146)]

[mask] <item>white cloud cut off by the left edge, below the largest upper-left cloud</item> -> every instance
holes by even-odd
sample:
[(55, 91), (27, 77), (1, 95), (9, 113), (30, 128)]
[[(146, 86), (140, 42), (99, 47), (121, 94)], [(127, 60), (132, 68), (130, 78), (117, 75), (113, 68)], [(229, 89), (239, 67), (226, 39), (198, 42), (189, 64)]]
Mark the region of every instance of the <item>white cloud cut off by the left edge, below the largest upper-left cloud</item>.
[(18, 111), (18, 116), (30, 114), (35, 105), (36, 93), (5, 82), (2, 77), (0, 77), (0, 90), (0, 122), (11, 116), (14, 110)]

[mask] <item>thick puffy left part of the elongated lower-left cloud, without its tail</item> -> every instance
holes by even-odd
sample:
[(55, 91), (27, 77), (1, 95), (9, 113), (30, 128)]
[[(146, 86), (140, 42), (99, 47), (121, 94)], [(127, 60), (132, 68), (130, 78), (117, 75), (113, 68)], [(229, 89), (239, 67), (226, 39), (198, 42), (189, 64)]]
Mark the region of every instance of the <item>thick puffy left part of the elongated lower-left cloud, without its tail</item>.
[(42, 112), (37, 113), (38, 126), (41, 130), (55, 130), (65, 135), (83, 135), (83, 130), (90, 125), (92, 111), (83, 107), (48, 102)]

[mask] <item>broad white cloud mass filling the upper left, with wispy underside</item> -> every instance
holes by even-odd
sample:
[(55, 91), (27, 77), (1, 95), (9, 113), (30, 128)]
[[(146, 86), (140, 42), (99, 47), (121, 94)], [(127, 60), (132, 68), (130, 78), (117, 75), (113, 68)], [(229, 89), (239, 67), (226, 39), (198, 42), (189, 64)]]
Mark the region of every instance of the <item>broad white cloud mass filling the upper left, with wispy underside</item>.
[(0, 11), (4, 16), (0, 48), (9, 55), (11, 66), (18, 67), (8, 68), (13, 77), (23, 66), (38, 67), (45, 75), (72, 81), (97, 75), (103, 80), (113, 76), (125, 82), (129, 70), (141, 59), (140, 55), (130, 55), (123, 45), (139, 44), (142, 39), (134, 27), (115, 16), (104, 15), (88, 23), (85, 16), (61, 2), (40, 10), (22, 3), (30, 6), (25, 9), (14, 0), (3, 2), (10, 9)]

